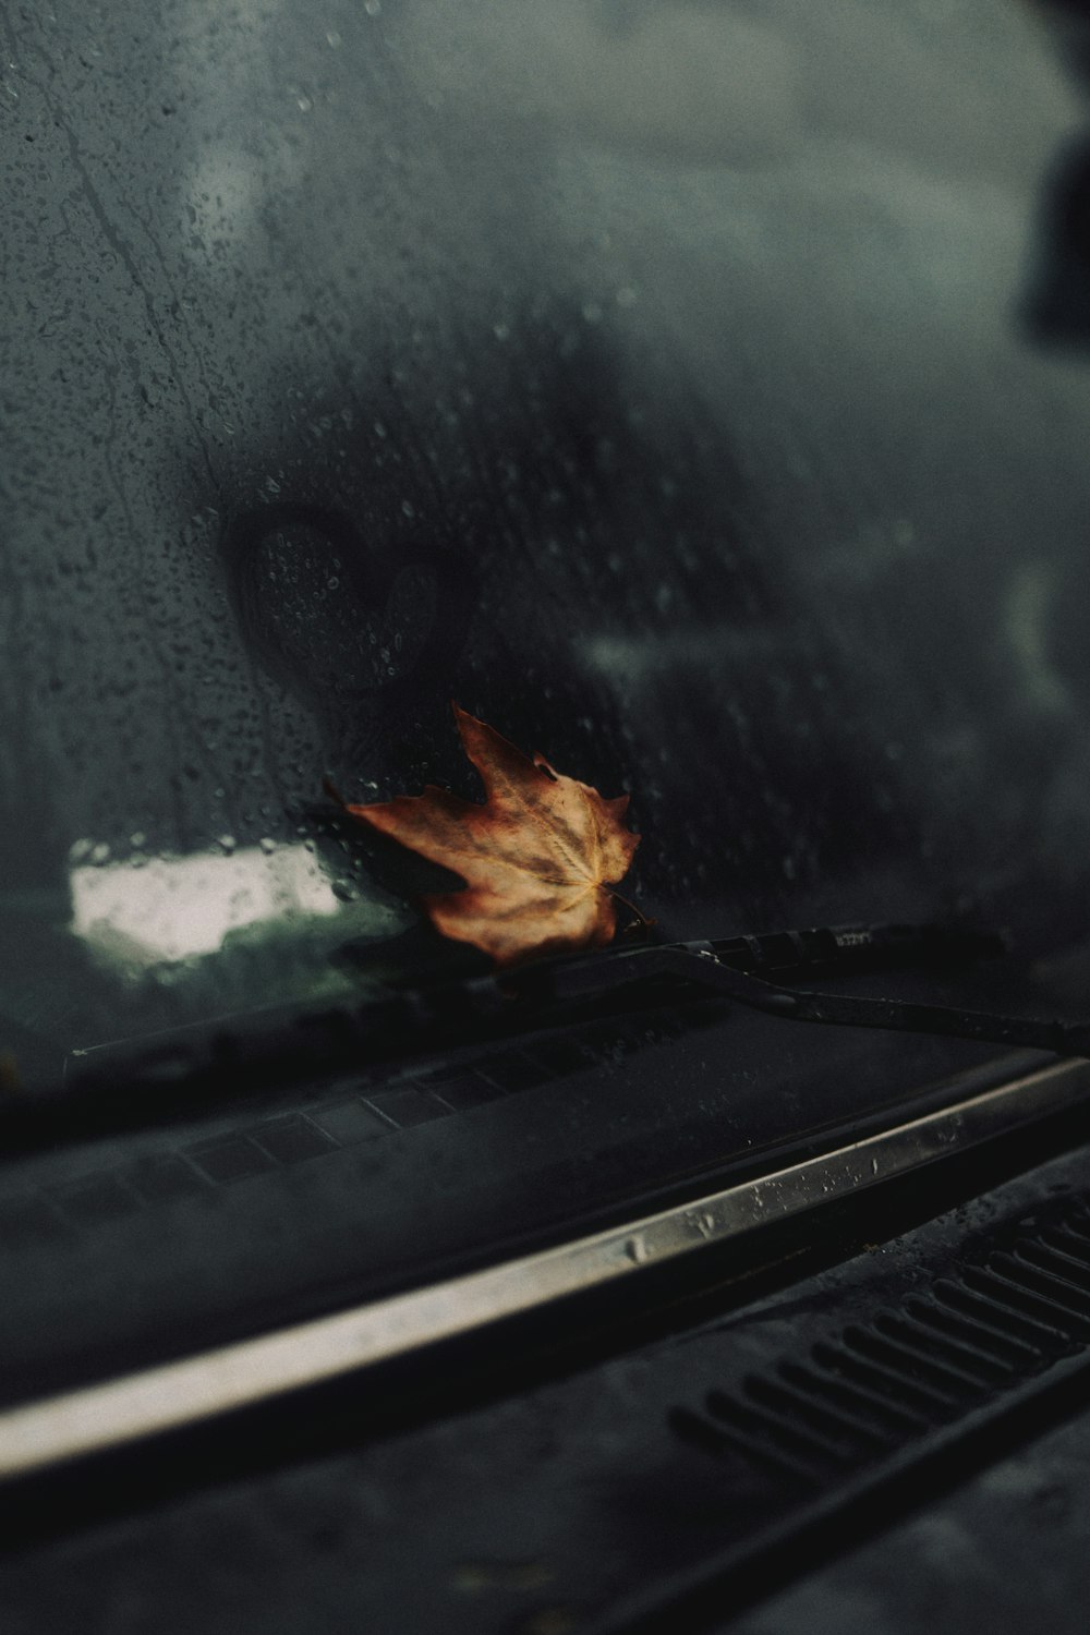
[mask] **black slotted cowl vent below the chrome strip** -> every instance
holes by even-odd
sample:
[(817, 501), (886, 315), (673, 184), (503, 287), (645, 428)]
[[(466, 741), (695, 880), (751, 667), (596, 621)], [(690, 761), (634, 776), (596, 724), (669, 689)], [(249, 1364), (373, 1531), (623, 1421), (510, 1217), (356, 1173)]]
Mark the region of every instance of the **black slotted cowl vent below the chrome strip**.
[(979, 1421), (1090, 1359), (1090, 1198), (1021, 1223), (897, 1308), (881, 1306), (675, 1408), (673, 1432), (776, 1483), (827, 1489)]

